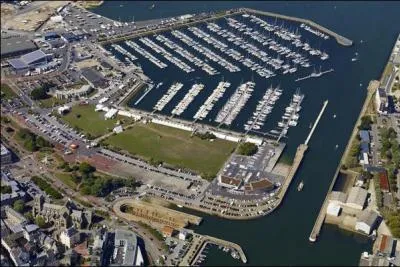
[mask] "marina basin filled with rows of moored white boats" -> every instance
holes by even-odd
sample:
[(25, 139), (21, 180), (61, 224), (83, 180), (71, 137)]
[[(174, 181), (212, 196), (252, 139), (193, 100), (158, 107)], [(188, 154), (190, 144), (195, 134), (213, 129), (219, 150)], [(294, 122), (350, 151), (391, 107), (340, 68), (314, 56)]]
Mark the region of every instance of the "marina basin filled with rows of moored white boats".
[[(279, 140), (287, 137), (289, 127), (297, 126), (299, 111), (289, 109), (294, 105), (300, 109), (302, 101), (296, 103), (295, 97), (289, 100), (289, 106), (282, 107), (281, 96), (287, 99), (293, 95), (290, 88), (296, 81), (333, 72), (329, 67), (332, 41), (316, 36), (317, 31), (310, 29), (300, 23), (243, 12), (141, 35), (104, 48), (119, 53), (117, 58), (129, 59), (129, 54), (137, 57), (135, 64), (150, 80), (144, 93), (132, 99), (131, 107)], [(328, 70), (299, 77), (315, 65), (328, 66)], [(165, 75), (159, 75), (160, 69), (166, 71)], [(176, 72), (187, 76), (176, 76)], [(235, 73), (243, 78), (232, 76)], [(269, 85), (283, 86), (268, 88), (267, 79)], [(200, 84), (199, 80), (201, 89), (194, 86)], [(172, 85), (167, 88), (168, 84)], [(182, 90), (182, 95), (183, 84), (194, 87)], [(154, 103), (154, 99), (158, 101)], [(284, 114), (279, 119), (282, 109)]]

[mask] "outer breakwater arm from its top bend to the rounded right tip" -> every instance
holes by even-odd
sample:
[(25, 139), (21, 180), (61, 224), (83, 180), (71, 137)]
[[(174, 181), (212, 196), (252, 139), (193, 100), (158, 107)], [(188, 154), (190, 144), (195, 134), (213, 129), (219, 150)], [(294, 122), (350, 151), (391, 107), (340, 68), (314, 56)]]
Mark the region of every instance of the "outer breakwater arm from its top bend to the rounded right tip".
[(321, 26), (309, 19), (302, 19), (302, 18), (297, 18), (297, 17), (292, 17), (292, 16), (286, 16), (286, 15), (281, 15), (278, 13), (260, 11), (260, 10), (255, 10), (255, 9), (251, 9), (251, 8), (242, 8), (241, 10), (247, 11), (249, 13), (255, 13), (255, 14), (259, 14), (259, 15), (264, 15), (264, 16), (269, 16), (269, 17), (280, 18), (280, 19), (291, 20), (291, 21), (308, 24), (309, 26), (314, 27), (314, 28), (320, 30), (321, 32), (324, 32), (324, 33), (334, 37), (336, 39), (336, 41), (343, 46), (352, 46), (353, 45), (353, 41), (351, 41), (350, 39), (347, 39), (346, 37), (341, 36), (341, 35), (333, 32), (333, 31), (325, 28), (324, 26)]

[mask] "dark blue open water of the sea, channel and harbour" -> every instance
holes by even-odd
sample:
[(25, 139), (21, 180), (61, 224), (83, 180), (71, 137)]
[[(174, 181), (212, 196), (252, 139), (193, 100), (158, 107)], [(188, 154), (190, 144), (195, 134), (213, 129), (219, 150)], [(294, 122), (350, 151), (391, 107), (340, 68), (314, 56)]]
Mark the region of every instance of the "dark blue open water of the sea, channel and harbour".
[[(153, 3), (155, 4), (154, 8), (150, 8)], [(304, 142), (310, 131), (310, 123), (316, 119), (323, 101), (328, 99), (329, 104), (309, 142), (309, 149), (304, 161), (280, 208), (269, 216), (251, 221), (230, 221), (202, 215), (204, 221), (195, 230), (199, 233), (238, 243), (244, 249), (248, 263), (251, 265), (356, 265), (360, 253), (371, 248), (371, 242), (368, 239), (344, 232), (333, 226), (324, 226), (320, 237), (314, 244), (308, 241), (308, 236), (365, 99), (368, 82), (372, 79), (379, 79), (400, 31), (400, 18), (398, 16), (400, 4), (395, 2), (348, 3), (332, 1), (108, 1), (93, 11), (115, 20), (131, 21), (134, 18), (135, 21), (139, 21), (236, 7), (249, 7), (307, 18), (353, 40), (354, 45), (342, 47), (333, 38), (325, 41), (321, 38), (312, 38), (311, 35), (307, 37), (310, 44), (327, 51), (330, 55), (326, 62), (321, 63), (322, 70), (334, 68), (335, 71), (319, 78), (299, 82), (294, 82), (294, 80), (310, 74), (312, 68), (298, 70), (295, 75), (277, 75), (266, 80), (248, 71), (246, 67), (229, 59), (228, 56), (219, 53), (243, 70), (240, 75), (229, 72), (223, 73), (223, 79), (232, 83), (227, 93), (232, 94), (241, 82), (254, 79), (256, 83), (253, 96), (231, 125), (234, 130), (243, 131), (243, 124), (248, 119), (249, 114), (254, 111), (258, 100), (271, 83), (274, 86), (280, 84), (283, 94), (274, 106), (273, 112), (268, 116), (263, 130), (271, 130), (276, 126), (281, 115), (283, 115), (285, 106), (289, 104), (290, 97), (297, 88), (300, 88), (301, 92), (305, 94), (299, 125), (290, 128), (288, 138), (283, 139), (287, 143), (284, 155), (286, 158), (292, 157), (297, 146)], [(216, 23), (222, 25), (224, 22), (219, 23), (217, 21)], [(290, 25), (290, 23), (285, 22), (285, 25)], [(198, 27), (204, 29), (205, 24)], [(188, 32), (187, 30), (182, 31)], [(306, 34), (304, 35), (306, 36)], [(170, 33), (165, 33), (165, 36), (170, 37)], [(153, 40), (153, 37), (150, 37), (150, 39)], [(163, 59), (139, 41), (137, 43), (159, 59)], [(213, 49), (213, 51), (215, 50)], [(354, 57), (356, 52), (359, 60), (352, 62), (351, 58)], [(134, 53), (134, 55), (137, 56), (137, 53)], [(152, 110), (171, 83), (174, 81), (182, 82), (184, 87), (162, 112), (171, 114), (171, 110), (195, 82), (203, 83), (205, 88), (193, 100), (188, 109), (182, 113), (182, 118), (191, 119), (222, 79), (221, 75), (208, 76), (204, 72), (186, 74), (177, 68), (169, 68), (164, 72), (153, 67), (154, 65), (151, 66), (148, 61), (142, 60), (140, 56), (138, 58), (145, 74), (154, 79), (155, 85), (163, 82), (162, 86), (153, 88), (140, 101), (137, 105), (137, 108), (140, 109)], [(318, 62), (318, 64), (320, 63)], [(169, 63), (169, 65), (171, 64)], [(137, 99), (133, 99), (131, 105), (134, 106), (136, 101)], [(209, 119), (216, 116), (225, 101), (221, 99), (216, 103), (204, 122), (212, 123), (209, 122)], [(336, 115), (335, 118), (333, 117), (334, 114)], [(338, 146), (336, 147), (336, 145)], [(298, 192), (296, 187), (301, 180), (304, 181), (304, 188), (301, 192)], [(230, 266), (241, 264), (232, 259), (230, 254), (225, 254), (217, 248), (210, 249), (207, 259), (203, 263), (205, 265)]]

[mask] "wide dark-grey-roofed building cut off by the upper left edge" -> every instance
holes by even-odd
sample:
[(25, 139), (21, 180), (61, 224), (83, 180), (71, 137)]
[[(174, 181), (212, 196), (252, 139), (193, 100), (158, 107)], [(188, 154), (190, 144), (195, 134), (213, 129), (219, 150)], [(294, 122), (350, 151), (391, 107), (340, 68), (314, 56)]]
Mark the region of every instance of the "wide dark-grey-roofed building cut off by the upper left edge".
[(37, 50), (36, 44), (23, 36), (1, 35), (1, 59), (17, 57)]

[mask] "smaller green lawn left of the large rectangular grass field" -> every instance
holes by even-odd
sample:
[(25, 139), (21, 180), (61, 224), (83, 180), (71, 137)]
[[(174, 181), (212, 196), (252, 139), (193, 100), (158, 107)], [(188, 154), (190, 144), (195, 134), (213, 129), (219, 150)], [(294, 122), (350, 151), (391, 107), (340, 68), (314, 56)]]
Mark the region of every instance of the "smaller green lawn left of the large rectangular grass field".
[[(78, 114), (80, 117), (78, 118)], [(93, 105), (76, 105), (73, 106), (71, 111), (62, 116), (65, 122), (72, 127), (77, 127), (86, 135), (90, 134), (91, 137), (96, 138), (104, 135), (116, 126), (118, 119), (104, 119), (104, 112), (94, 111)], [(128, 120), (123, 118), (121, 120)]]

